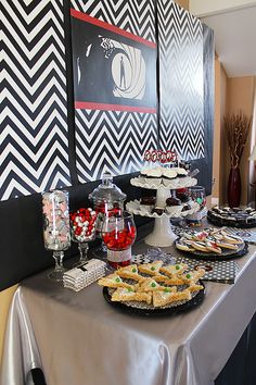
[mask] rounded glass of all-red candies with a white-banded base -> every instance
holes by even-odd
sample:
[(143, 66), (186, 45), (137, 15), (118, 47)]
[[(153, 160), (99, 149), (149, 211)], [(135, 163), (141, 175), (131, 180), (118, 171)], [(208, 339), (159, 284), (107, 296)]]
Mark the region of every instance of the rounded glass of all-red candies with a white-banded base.
[(110, 211), (103, 220), (102, 239), (107, 248), (107, 261), (117, 269), (131, 261), (131, 245), (136, 239), (133, 215), (127, 211)]

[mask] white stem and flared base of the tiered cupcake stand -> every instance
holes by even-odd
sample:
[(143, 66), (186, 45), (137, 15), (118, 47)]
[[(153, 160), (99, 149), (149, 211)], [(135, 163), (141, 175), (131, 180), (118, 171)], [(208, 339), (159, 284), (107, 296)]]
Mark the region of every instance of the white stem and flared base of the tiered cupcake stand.
[[(156, 192), (156, 206), (165, 207), (166, 199), (170, 197), (168, 188), (159, 187)], [(145, 244), (156, 247), (171, 246), (177, 236), (171, 229), (170, 220), (168, 216), (163, 215), (155, 219), (153, 232), (145, 237)]]

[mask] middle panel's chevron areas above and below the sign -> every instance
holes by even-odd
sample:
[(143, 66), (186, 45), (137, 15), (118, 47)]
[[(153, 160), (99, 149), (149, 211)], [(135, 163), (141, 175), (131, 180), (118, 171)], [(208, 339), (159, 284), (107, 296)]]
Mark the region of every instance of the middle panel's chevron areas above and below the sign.
[[(155, 42), (154, 0), (72, 0), (72, 7)], [(143, 153), (158, 148), (156, 114), (75, 110), (77, 173), (81, 183), (141, 169)]]

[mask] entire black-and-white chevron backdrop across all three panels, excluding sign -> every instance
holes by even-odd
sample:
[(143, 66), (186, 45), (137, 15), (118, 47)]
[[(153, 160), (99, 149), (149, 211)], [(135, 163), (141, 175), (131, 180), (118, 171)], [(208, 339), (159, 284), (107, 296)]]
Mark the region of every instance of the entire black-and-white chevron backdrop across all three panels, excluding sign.
[[(71, 0), (71, 7), (152, 42), (155, 0)], [(202, 25), (157, 2), (161, 127), (151, 113), (76, 110), (80, 182), (141, 167), (148, 148), (204, 157)], [(63, 0), (1, 0), (0, 200), (69, 186)]]

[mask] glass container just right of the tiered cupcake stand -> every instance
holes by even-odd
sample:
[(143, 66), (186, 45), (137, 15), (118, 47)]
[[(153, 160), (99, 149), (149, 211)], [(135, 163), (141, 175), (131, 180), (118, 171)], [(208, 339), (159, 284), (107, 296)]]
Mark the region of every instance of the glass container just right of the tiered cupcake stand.
[(203, 186), (193, 186), (189, 188), (189, 196), (194, 203), (199, 204), (199, 210), (188, 215), (185, 221), (191, 225), (202, 225), (203, 210), (206, 207), (206, 194)]

